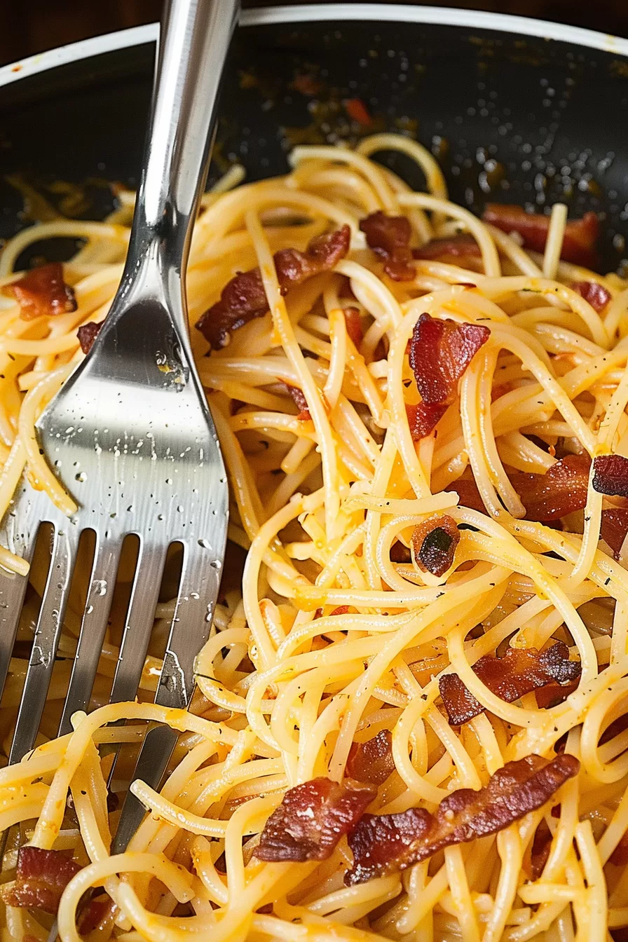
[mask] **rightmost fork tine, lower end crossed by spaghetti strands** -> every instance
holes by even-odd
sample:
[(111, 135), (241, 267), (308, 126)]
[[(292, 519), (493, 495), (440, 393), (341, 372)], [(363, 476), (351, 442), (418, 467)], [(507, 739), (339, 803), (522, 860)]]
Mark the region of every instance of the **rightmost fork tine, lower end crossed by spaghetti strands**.
[[(220, 554), (222, 555), (222, 554)], [(177, 604), (170, 623), (164, 666), (155, 703), (185, 708), (194, 690), (194, 659), (207, 641), (220, 584), (216, 559), (198, 544), (184, 544), (184, 565)], [(140, 778), (159, 788), (178, 734), (169, 726), (157, 726), (146, 735), (137, 756), (132, 781)], [(127, 794), (122, 807), (112, 853), (121, 853), (137, 831), (146, 808)]]

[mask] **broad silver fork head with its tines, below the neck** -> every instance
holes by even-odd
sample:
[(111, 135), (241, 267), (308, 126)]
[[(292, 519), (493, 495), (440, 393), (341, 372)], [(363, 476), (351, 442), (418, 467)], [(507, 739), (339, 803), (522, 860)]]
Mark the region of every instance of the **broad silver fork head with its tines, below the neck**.
[[(119, 303), (120, 309), (112, 310), (94, 348), (37, 423), (43, 456), (78, 511), (64, 517), (24, 481), (5, 524), (9, 547), (26, 557), (41, 521), (52, 523), (54, 532), (11, 761), (32, 748), (37, 734), (85, 529), (94, 531), (96, 549), (60, 732), (71, 728), (72, 712), (89, 703), (128, 534), (137, 535), (139, 556), (111, 699), (136, 696), (172, 543), (183, 546), (183, 572), (155, 699), (186, 707), (192, 694), (194, 658), (208, 636), (217, 598), (228, 491), (189, 342), (177, 326), (182, 311), (173, 316), (171, 310), (183, 303), (181, 296), (175, 293), (173, 301), (168, 284), (159, 288), (154, 278), (151, 285), (119, 294), (114, 307)], [(0, 683), (7, 673), (8, 638), (12, 643), (15, 636), (14, 609), (24, 597), (24, 580), (16, 578), (5, 577), (0, 586), (0, 610), (5, 621), (14, 622), (0, 641)]]

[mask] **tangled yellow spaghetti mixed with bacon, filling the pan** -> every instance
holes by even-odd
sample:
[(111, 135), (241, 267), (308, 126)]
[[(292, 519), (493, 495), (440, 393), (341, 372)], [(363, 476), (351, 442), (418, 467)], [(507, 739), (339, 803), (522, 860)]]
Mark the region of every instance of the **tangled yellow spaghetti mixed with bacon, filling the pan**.
[[(56, 916), (63, 942), (605, 942), (628, 927), (628, 284), (564, 260), (568, 230), (593, 252), (590, 219), (476, 219), (408, 138), (299, 147), (287, 176), (239, 183), (203, 198), (187, 295), (242, 584), (189, 712), (150, 703), (156, 648), (140, 702), (107, 705), (114, 611), (91, 712), (55, 739), (71, 598), (38, 746), (0, 770), (4, 938), (43, 942)], [(106, 316), (132, 206), (0, 256), (2, 512), (24, 470), (72, 511), (34, 421)], [(85, 240), (75, 309), (25, 319), (14, 266), (58, 235)], [(29, 579), (5, 743), (37, 556)], [(112, 746), (154, 723), (181, 733), (169, 775), (131, 785), (150, 814), (111, 856)]]

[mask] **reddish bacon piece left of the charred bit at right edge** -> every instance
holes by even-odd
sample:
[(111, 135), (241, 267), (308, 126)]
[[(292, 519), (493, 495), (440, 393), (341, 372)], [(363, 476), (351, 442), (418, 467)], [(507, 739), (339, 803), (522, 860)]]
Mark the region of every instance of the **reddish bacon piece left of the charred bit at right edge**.
[[(510, 482), (521, 497), (526, 520), (558, 520), (587, 503), (588, 454), (566, 455), (545, 474), (517, 471)], [(628, 483), (628, 478), (626, 479)]]

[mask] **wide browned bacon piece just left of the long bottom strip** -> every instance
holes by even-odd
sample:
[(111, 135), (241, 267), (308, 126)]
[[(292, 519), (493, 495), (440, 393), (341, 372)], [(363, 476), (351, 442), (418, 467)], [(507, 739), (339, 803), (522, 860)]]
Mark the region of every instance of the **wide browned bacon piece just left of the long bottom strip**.
[(327, 860), (373, 801), (372, 785), (314, 778), (289, 788), (266, 821), (254, 850), (260, 860)]

